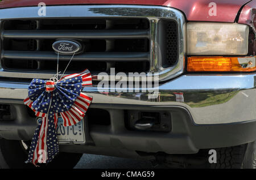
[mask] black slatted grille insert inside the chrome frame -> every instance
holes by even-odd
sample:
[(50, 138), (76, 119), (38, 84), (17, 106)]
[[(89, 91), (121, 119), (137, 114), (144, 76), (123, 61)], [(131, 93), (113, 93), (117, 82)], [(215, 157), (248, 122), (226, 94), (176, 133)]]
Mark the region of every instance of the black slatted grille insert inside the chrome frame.
[[(58, 39), (77, 40), (85, 47), (73, 57), (69, 72), (144, 72), (149, 70), (149, 22), (145, 18), (31, 19), (2, 22), (2, 67), (6, 70), (54, 72)], [(64, 70), (70, 55), (60, 55)]]

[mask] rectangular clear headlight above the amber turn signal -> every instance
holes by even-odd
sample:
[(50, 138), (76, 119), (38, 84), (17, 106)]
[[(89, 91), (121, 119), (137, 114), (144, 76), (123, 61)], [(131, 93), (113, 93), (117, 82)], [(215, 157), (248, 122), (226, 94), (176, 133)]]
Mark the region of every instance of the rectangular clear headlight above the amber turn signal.
[(187, 23), (189, 55), (246, 55), (249, 26), (237, 23)]

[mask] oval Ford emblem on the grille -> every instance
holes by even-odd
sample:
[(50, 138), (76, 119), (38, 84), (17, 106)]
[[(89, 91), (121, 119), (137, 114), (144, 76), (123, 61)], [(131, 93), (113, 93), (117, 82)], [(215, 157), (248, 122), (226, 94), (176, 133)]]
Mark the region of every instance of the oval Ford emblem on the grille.
[(79, 42), (60, 40), (52, 44), (52, 49), (57, 53), (71, 54), (81, 49)]

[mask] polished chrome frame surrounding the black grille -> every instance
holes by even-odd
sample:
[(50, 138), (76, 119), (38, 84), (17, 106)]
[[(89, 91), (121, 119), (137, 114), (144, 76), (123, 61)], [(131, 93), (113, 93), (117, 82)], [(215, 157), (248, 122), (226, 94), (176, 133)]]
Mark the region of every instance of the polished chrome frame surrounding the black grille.
[[(171, 7), (162, 6), (137, 6), (137, 5), (71, 5), (71, 6), (47, 6), (46, 16), (38, 16), (39, 7), (15, 7), (0, 10), (0, 20), (5, 19), (29, 19), (29, 18), (79, 18), (79, 17), (141, 17), (147, 18), (151, 23), (151, 72), (159, 73), (159, 80), (168, 80), (180, 75), (184, 69), (185, 55), (185, 19), (183, 14)], [(15, 12), (15, 13), (14, 13)], [(163, 68), (159, 62), (158, 54), (158, 20), (168, 18), (175, 20), (179, 36), (179, 59), (177, 65), (170, 68)], [(14, 75), (11, 75), (14, 73)], [(20, 76), (18, 76), (20, 75)], [(44, 75), (44, 74), (43, 74)], [(7, 77), (29, 77), (36, 78), (38, 75), (27, 74), (26, 72), (0, 72), (0, 76)], [(41, 78), (46, 78), (42, 76)]]

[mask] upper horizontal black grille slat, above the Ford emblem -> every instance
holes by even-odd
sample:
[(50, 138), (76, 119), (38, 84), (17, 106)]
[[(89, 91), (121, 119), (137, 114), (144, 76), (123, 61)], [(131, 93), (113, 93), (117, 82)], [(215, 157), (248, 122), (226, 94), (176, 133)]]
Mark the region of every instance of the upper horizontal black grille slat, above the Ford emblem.
[(2, 38), (19, 39), (54, 39), (54, 38), (79, 38), (79, 39), (121, 39), (121, 38), (149, 38), (147, 30), (96, 30), (96, 31), (3, 31)]

